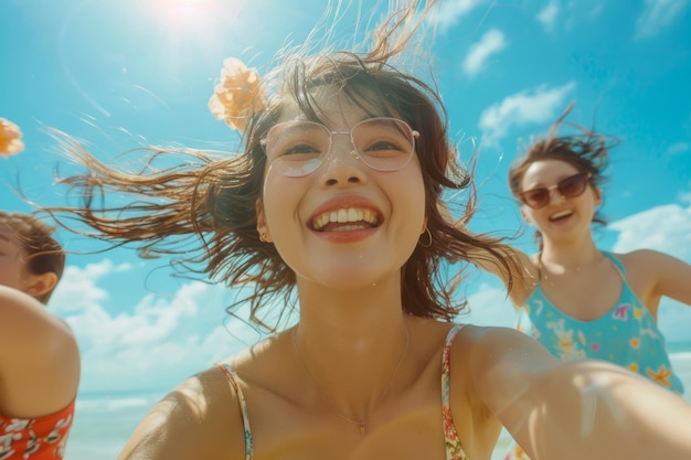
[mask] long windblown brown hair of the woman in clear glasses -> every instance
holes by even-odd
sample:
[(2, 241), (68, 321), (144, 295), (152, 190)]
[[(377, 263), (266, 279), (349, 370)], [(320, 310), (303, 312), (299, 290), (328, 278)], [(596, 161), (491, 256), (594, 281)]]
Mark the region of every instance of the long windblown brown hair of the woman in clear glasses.
[[(328, 86), (372, 116), (392, 116), (405, 120), (419, 132), (416, 152), (424, 179), (425, 216), (432, 235), (422, 235), (402, 268), (403, 309), (417, 317), (451, 320), (465, 306), (454, 300), (456, 281), (443, 279), (443, 263), (463, 263), (482, 257), (510, 271), (498, 240), (471, 236), (450, 217), (443, 200), (447, 189), (469, 189), (465, 211), (469, 218), (475, 206), (475, 189), (469, 172), (457, 160), (449, 141), (446, 110), (432, 86), (391, 65), (404, 52), (422, 23), (416, 1), (395, 12), (381, 25), (374, 46), (366, 53), (348, 51), (294, 55), (262, 79), (269, 95), (267, 104), (253, 113), (243, 137), (241, 154), (212, 160), (203, 153), (190, 153), (187, 162), (161, 171), (141, 174), (118, 172), (97, 161), (73, 141), (65, 146), (81, 159), (91, 173), (62, 179), (84, 197), (82, 207), (50, 210), (88, 224), (87, 234), (124, 245), (139, 244), (145, 255), (176, 255), (180, 263), (198, 274), (228, 286), (251, 284), (251, 319), (274, 329), (258, 314), (263, 306), (278, 300), (284, 307), (278, 315), (295, 308), (295, 274), (276, 248), (258, 238), (256, 202), (262, 197), (266, 154), (262, 139), (281, 117), (286, 107), (297, 107), (309, 119), (319, 119), (315, 90)], [(434, 1), (429, 1), (425, 11)], [(276, 88), (274, 92), (270, 88)], [(156, 152), (153, 158), (166, 154)], [(146, 172), (146, 173), (145, 173)], [(105, 193), (126, 193), (137, 201), (118, 207), (97, 207)], [(60, 222), (66, 222), (62, 218)], [(195, 235), (195, 242), (185, 239)], [(171, 238), (176, 244), (171, 243)], [(202, 265), (202, 268), (193, 268)]]

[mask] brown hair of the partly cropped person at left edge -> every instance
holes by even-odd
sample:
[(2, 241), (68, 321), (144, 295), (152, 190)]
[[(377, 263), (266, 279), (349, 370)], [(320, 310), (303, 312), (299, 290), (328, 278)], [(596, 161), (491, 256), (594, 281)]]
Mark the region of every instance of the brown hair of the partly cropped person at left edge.
[[(21, 250), (24, 266), (33, 275), (54, 272), (57, 279), (65, 268), (65, 252), (55, 238), (55, 228), (29, 214), (0, 211), (0, 232), (7, 233), (11, 243)], [(53, 290), (36, 297), (47, 303)]]

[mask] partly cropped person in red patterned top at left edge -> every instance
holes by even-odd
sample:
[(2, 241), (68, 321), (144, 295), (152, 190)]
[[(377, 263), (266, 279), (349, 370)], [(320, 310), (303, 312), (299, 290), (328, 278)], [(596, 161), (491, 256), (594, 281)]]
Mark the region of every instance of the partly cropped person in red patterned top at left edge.
[(65, 266), (52, 233), (0, 211), (0, 460), (62, 459), (72, 428), (79, 352), (45, 309)]

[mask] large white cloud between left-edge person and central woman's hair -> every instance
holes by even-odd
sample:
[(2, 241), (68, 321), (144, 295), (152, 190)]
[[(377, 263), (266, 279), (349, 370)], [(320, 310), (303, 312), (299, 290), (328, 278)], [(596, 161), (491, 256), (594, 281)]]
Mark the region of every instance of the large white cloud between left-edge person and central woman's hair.
[(228, 319), (232, 291), (201, 281), (107, 311), (105, 302), (117, 299), (99, 281), (129, 268), (108, 259), (68, 266), (51, 299), (51, 309), (70, 323), (79, 344), (81, 391), (172, 388), (261, 339), (251, 325)]

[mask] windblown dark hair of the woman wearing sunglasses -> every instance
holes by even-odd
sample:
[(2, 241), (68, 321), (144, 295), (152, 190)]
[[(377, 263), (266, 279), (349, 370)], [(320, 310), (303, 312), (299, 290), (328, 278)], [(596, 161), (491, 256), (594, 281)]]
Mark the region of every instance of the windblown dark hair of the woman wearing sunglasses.
[[(572, 109), (573, 104), (571, 104), (556, 122), (552, 125), (549, 135), (533, 142), (528, 148), (528, 152), (511, 165), (509, 169), (509, 188), (513, 196), (518, 197), (519, 193), (523, 192), (521, 184), (525, 171), (536, 161), (564, 161), (576, 168), (580, 172), (589, 173), (591, 185), (600, 190), (607, 182), (604, 172), (609, 164), (609, 150), (617, 146), (618, 142), (595, 130), (573, 124), (566, 125), (576, 128), (581, 133), (557, 136), (559, 129)], [(607, 221), (602, 213), (597, 211), (593, 215), (593, 223), (606, 225)], [(534, 239), (540, 249), (542, 249), (542, 234), (540, 231), (535, 231)]]

